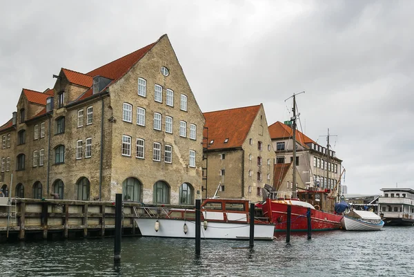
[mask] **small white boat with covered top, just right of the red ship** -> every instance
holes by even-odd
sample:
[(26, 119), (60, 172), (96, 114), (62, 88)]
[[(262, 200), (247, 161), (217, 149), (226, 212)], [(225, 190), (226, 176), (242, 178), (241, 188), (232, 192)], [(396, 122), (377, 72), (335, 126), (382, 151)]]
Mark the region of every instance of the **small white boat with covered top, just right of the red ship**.
[(344, 215), (341, 225), (348, 231), (376, 231), (384, 226), (384, 221), (372, 211), (352, 210)]

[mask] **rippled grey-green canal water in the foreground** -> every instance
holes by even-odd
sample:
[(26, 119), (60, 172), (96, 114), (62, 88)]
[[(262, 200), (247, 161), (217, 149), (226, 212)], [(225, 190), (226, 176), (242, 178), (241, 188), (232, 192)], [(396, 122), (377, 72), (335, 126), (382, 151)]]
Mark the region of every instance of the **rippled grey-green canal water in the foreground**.
[(331, 231), (273, 241), (113, 238), (0, 245), (0, 276), (414, 276), (414, 227)]

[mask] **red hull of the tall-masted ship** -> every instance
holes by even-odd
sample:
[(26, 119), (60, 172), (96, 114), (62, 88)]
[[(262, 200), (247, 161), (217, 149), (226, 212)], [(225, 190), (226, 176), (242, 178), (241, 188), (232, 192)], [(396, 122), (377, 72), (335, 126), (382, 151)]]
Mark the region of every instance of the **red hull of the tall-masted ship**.
[[(307, 207), (295, 204), (286, 204), (268, 199), (262, 207), (263, 216), (269, 218), (271, 222), (275, 223), (275, 232), (286, 232), (288, 205), (291, 207), (290, 231), (307, 231)], [(324, 211), (311, 209), (312, 231), (330, 231), (340, 229), (341, 218), (342, 216), (335, 215), (333, 213), (326, 213)]]

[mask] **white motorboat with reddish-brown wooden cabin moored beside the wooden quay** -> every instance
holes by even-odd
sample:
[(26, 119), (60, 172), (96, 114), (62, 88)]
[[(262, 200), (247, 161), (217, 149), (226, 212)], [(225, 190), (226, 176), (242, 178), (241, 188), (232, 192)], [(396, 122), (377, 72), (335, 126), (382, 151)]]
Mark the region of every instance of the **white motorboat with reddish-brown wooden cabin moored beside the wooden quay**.
[[(194, 209), (136, 207), (142, 236), (195, 238)], [(207, 199), (201, 204), (201, 238), (248, 240), (248, 200)], [(255, 220), (255, 240), (272, 240), (275, 225)]]

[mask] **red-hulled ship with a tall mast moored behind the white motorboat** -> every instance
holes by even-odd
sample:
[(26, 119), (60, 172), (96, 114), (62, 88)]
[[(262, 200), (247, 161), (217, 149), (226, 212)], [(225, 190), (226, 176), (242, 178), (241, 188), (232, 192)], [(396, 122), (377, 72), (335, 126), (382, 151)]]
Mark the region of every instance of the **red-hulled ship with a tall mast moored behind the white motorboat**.
[[(299, 93), (300, 94), (300, 93)], [(293, 143), (296, 144), (296, 99), (295, 94), (293, 95), (293, 117), (290, 118), (292, 121), (293, 129)], [(328, 144), (329, 145), (329, 144)], [(328, 149), (329, 153), (329, 149)], [(296, 160), (296, 147), (293, 146), (293, 161)], [(329, 213), (322, 211), (319, 204), (311, 204), (310, 202), (303, 201), (303, 195), (313, 195), (313, 199), (322, 200), (326, 198), (327, 193), (331, 191), (319, 190), (317, 191), (297, 191), (296, 187), (296, 166), (295, 162), (292, 163), (293, 169), (293, 186), (290, 193), (278, 192), (275, 191), (273, 187), (266, 185), (263, 189), (265, 202), (260, 204), (258, 207), (262, 207), (262, 214), (264, 217), (268, 218), (270, 222), (275, 223), (275, 232), (286, 232), (288, 220), (287, 220), (287, 210), (288, 206), (291, 209), (290, 217), (290, 231), (307, 231), (308, 229), (308, 220), (307, 213), (308, 208), (311, 211), (311, 229), (313, 231), (328, 231), (341, 228), (341, 219), (342, 215), (335, 213)], [(340, 178), (339, 178), (340, 179)], [(302, 195), (300, 200), (298, 195)], [(323, 206), (322, 206), (323, 207)]]

